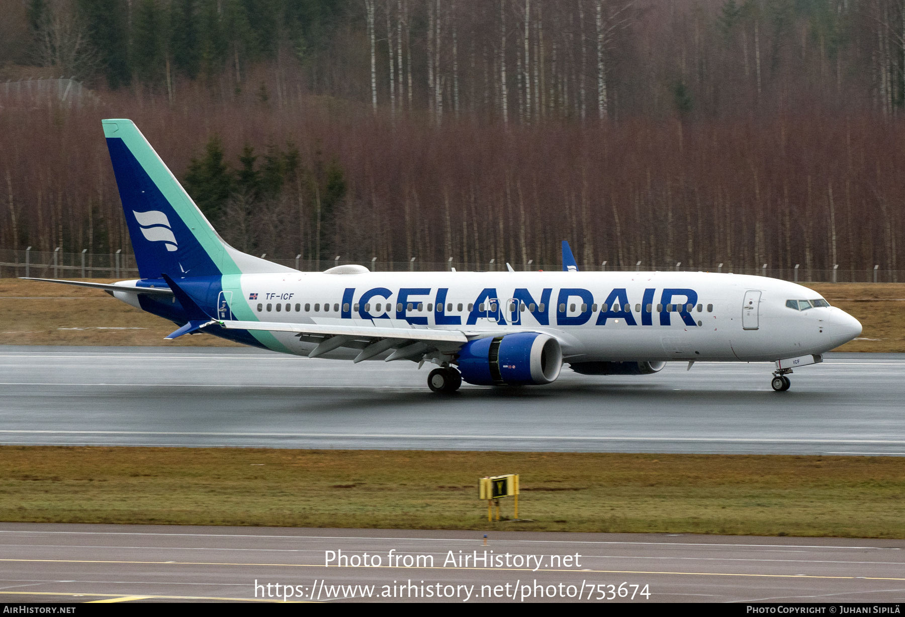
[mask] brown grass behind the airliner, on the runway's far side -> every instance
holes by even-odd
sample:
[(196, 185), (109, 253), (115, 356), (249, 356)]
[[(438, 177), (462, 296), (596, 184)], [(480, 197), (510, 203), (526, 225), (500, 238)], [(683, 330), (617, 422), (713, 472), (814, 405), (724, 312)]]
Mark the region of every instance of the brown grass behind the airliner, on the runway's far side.
[[(807, 286), (864, 326), (862, 340), (836, 351), (905, 352), (905, 283)], [(176, 329), (166, 319), (130, 307), (103, 291), (57, 283), (0, 279), (0, 314), (4, 316), (0, 345), (239, 346), (209, 335), (164, 340)], [(110, 327), (140, 329), (98, 329)]]

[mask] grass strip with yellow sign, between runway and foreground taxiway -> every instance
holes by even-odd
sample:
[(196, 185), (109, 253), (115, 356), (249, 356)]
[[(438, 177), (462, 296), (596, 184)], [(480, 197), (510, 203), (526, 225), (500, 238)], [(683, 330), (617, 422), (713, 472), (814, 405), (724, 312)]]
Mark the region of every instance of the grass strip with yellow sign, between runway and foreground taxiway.
[[(897, 457), (0, 447), (0, 520), (905, 537)], [(519, 473), (487, 522), (481, 476)], [(512, 516), (511, 499), (502, 513)]]

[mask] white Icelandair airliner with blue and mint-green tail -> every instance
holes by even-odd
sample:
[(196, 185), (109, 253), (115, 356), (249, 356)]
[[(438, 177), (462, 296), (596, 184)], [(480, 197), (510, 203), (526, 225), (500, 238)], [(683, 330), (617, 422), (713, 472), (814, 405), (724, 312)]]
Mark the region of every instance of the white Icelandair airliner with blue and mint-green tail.
[(238, 252), (198, 210), (135, 124), (103, 120), (140, 280), (55, 280), (109, 291), (179, 326), (309, 357), (437, 365), (462, 380), (549, 384), (650, 375), (666, 362), (775, 362), (771, 385), (861, 334), (857, 319), (785, 280), (711, 272), (301, 272)]

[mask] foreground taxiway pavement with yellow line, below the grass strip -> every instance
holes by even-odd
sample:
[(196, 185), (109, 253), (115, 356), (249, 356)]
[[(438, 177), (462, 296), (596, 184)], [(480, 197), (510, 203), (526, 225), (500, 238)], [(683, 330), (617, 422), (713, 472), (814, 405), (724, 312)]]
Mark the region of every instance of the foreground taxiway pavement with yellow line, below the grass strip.
[[(254, 600), (255, 593), (273, 601), (277, 583), (280, 596), (303, 601), (436, 601), (438, 591), (443, 601), (459, 603), (523, 596), (526, 602), (905, 600), (903, 540), (488, 535), (484, 546), (481, 532), (468, 531), (0, 523), (0, 602)], [(485, 550), (500, 555), (499, 566), (496, 560), (475, 566), (473, 556)], [(329, 567), (328, 551), (335, 555)], [(335, 565), (339, 551), (348, 566)], [(367, 566), (352, 565), (366, 553)], [(460, 555), (472, 559), (460, 567)], [(385, 591), (390, 596), (380, 597)]]

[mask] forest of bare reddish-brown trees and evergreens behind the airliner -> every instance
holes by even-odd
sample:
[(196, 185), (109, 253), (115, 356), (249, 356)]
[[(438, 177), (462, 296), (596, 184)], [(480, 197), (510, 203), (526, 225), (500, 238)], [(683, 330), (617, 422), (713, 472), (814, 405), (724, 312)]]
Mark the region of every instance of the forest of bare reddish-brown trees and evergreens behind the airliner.
[(5, 249), (131, 252), (100, 130), (129, 118), (227, 242), (268, 257), (523, 267), (567, 239), (590, 269), (902, 262), (905, 0), (0, 14)]

